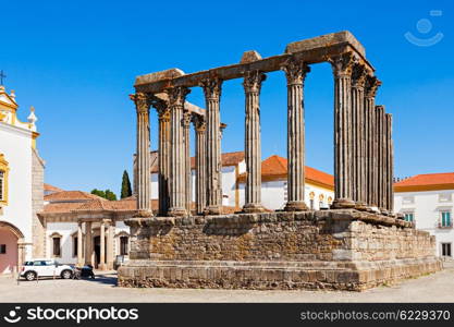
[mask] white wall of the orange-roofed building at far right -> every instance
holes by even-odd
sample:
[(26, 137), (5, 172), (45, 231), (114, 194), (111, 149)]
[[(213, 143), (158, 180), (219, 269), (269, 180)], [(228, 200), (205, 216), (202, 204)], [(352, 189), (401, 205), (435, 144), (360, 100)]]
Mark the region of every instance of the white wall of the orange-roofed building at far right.
[[(451, 194), (451, 201), (440, 201), (440, 194)], [(424, 191), (424, 192), (395, 192), (394, 211), (413, 213), (416, 228), (426, 230), (437, 239), (437, 255), (441, 256), (441, 243), (451, 243), (451, 255), (454, 250), (454, 229), (441, 229), (438, 223), (441, 211), (451, 211), (453, 217), (454, 190)]]

